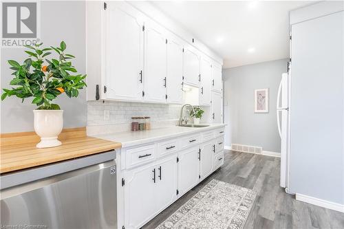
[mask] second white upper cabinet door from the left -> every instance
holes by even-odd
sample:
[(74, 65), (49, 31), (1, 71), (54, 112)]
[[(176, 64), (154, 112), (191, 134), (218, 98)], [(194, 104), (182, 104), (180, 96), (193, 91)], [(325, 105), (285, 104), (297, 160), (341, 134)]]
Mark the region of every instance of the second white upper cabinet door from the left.
[(166, 102), (166, 38), (162, 27), (145, 25), (144, 39), (144, 100)]

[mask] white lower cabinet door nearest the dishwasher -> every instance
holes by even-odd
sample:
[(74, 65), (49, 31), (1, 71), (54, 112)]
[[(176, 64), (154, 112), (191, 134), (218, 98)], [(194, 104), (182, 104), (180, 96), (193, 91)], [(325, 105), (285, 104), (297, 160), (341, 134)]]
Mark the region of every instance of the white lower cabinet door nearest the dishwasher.
[(138, 228), (146, 223), (155, 212), (155, 188), (157, 186), (155, 164), (140, 166), (125, 172), (125, 227)]

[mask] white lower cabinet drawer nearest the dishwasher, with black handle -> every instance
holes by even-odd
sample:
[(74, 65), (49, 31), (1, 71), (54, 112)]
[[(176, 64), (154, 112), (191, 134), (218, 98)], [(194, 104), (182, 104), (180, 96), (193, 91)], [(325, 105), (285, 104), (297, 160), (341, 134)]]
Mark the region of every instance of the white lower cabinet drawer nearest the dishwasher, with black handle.
[(127, 157), (127, 167), (136, 166), (138, 164), (153, 160), (154, 152), (155, 144), (127, 149), (125, 152)]

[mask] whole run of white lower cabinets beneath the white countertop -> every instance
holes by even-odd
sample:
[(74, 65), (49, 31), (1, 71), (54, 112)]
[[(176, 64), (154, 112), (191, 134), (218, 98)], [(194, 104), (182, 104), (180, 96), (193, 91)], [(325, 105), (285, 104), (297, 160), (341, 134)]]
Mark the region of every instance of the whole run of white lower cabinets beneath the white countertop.
[(144, 226), (222, 166), (222, 131), (223, 127), (122, 149), (118, 190), (124, 204), (118, 209), (118, 228)]

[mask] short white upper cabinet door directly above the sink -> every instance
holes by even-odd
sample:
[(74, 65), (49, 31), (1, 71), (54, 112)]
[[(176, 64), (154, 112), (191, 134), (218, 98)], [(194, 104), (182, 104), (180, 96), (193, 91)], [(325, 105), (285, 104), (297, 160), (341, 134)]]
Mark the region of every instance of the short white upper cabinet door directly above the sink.
[(199, 87), (200, 55), (193, 47), (184, 47), (184, 83)]

